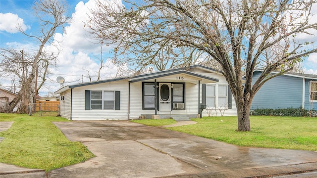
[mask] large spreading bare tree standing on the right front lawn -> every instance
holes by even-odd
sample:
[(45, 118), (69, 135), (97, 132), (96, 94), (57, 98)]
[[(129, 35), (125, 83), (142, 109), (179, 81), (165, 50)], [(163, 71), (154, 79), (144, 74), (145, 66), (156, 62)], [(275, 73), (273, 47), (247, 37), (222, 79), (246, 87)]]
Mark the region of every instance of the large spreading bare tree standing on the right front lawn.
[[(95, 38), (114, 45), (114, 55), (134, 63), (136, 69), (153, 64), (161, 53), (177, 54), (182, 47), (202, 51), (208, 60), (216, 60), (236, 101), (237, 131), (250, 131), (249, 110), (256, 92), (266, 81), (291, 70), (290, 64), (317, 52), (314, 42), (296, 38), (316, 34), (317, 23), (310, 22), (315, 3), (315, 0), (126, 0), (124, 4), (98, 1), (87, 23)], [(268, 50), (274, 52), (264, 64)], [(253, 71), (260, 65), (263, 73), (252, 81)], [(284, 70), (269, 75), (281, 66)]]

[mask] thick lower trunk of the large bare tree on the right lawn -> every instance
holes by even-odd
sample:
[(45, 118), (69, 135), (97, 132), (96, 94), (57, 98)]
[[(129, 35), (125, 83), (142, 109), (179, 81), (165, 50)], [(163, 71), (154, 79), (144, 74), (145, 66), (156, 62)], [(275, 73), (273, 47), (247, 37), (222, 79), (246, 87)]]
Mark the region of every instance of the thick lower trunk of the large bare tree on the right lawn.
[(237, 112), (238, 112), (238, 130), (242, 132), (251, 131), (250, 127), (250, 104), (238, 104), (237, 103)]

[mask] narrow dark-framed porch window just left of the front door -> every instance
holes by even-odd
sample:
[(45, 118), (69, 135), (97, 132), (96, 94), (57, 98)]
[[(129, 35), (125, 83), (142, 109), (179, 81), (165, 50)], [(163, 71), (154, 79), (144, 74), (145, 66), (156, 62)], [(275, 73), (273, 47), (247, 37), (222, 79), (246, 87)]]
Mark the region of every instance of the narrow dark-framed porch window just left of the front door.
[(155, 108), (154, 83), (143, 83), (143, 109)]

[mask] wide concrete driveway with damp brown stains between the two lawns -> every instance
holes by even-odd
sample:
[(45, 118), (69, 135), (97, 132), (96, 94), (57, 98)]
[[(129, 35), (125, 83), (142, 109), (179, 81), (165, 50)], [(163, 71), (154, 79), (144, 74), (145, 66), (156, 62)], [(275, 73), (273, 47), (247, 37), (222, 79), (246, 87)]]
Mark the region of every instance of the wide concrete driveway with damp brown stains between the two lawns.
[(317, 152), (239, 147), (128, 121), (53, 122), (96, 155), (49, 178), (256, 177), (317, 173)]

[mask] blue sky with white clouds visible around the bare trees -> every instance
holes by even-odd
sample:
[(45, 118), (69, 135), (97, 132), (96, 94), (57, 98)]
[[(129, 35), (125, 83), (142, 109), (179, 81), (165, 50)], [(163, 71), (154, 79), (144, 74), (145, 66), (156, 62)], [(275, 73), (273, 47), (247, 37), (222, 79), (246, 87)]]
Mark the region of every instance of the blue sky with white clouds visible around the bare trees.
[[(93, 43), (84, 28), (84, 22), (88, 19), (87, 13), (95, 6), (95, 2), (94, 0), (67, 0), (67, 2), (72, 19), (65, 25), (64, 32), (59, 31), (54, 35), (54, 41), (61, 41), (59, 45), (62, 51), (57, 58), (57, 68), (50, 68), (51, 75), (48, 76), (46, 85), (40, 90), (41, 96), (61, 87), (56, 81), (58, 76), (65, 79), (64, 86), (82, 81), (89, 82), (88, 75), (93, 79), (97, 77), (101, 46)], [(34, 40), (16, 30), (18, 23), (22, 24), (27, 34), (32, 34), (39, 29), (38, 21), (32, 15), (32, 5), (33, 0), (0, 0), (0, 48), (13, 47), (19, 50), (38, 48)], [(109, 47), (103, 48), (104, 58), (107, 58), (109, 49)], [(306, 58), (303, 67), (305, 73), (317, 75), (317, 53)], [(102, 79), (113, 78), (116, 72), (117, 68), (111, 60), (107, 60), (101, 77)], [(0, 75), (0, 84), (1, 87), (7, 88), (11, 85), (11, 79), (4, 79)]]

